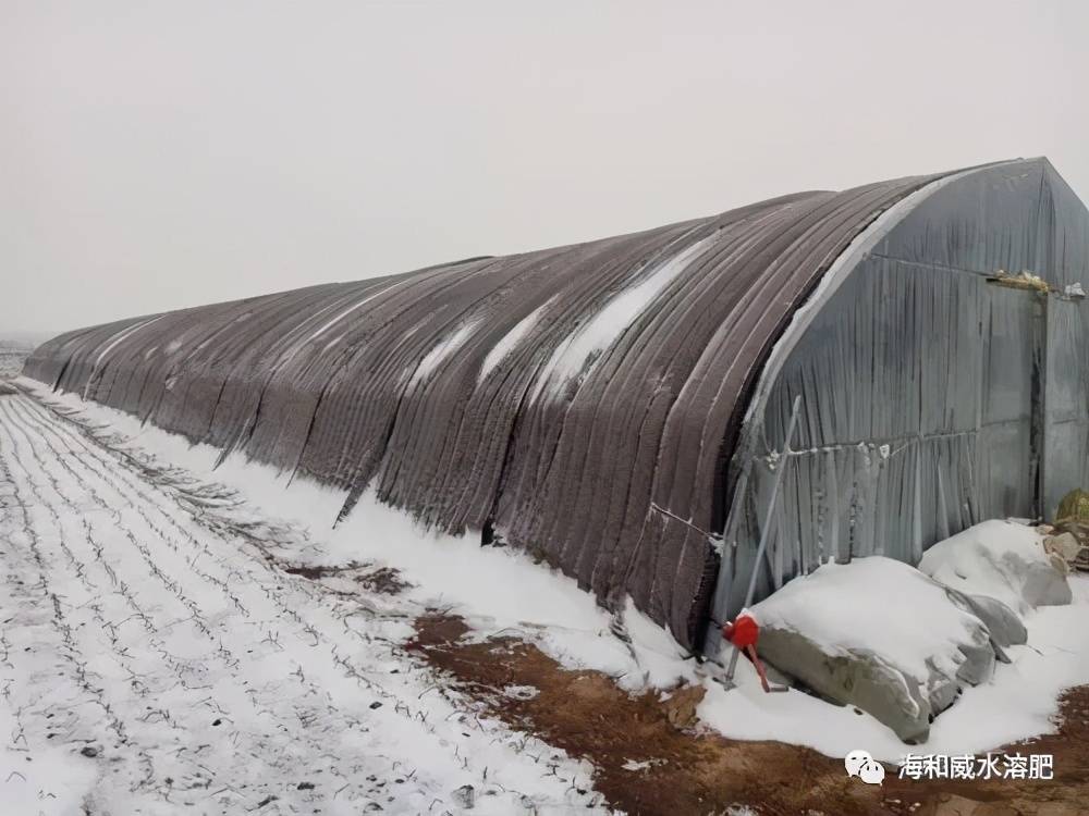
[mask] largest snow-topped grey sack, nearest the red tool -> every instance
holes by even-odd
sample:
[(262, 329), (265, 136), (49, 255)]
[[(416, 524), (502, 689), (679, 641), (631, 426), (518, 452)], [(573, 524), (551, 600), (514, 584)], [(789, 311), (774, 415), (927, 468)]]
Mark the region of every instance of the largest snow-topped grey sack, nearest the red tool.
[(868, 712), (905, 742), (926, 740), (959, 689), (994, 670), (983, 622), (891, 558), (827, 564), (751, 611), (761, 657), (821, 696)]

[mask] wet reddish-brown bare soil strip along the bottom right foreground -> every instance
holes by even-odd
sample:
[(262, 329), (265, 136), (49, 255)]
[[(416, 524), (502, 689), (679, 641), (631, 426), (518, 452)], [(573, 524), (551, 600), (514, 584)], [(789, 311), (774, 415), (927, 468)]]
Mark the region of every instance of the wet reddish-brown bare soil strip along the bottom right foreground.
[[(816, 751), (699, 728), (699, 688), (633, 695), (607, 675), (565, 669), (514, 638), (466, 642), (456, 617), (426, 616), (416, 628), (412, 651), (509, 725), (590, 762), (596, 788), (629, 814), (722, 814), (735, 805), (809, 816), (1089, 813), (1089, 687), (1065, 695), (1057, 733), (1005, 749), (1053, 754), (1054, 780), (919, 781), (890, 767), (884, 784), (871, 787)], [(512, 694), (512, 687), (538, 693)]]

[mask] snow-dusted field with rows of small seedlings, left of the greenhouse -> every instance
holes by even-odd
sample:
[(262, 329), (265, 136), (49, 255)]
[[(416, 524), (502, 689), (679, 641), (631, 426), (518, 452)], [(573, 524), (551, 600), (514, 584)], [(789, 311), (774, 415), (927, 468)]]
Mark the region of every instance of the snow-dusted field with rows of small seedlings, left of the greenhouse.
[[(0, 747), (32, 763), (0, 798), (29, 777), (46, 812), (85, 779), (89, 814), (592, 804), (572, 763), (473, 716), (402, 650), (414, 610), (389, 576), (329, 592), (228, 500), (158, 477), (0, 397)], [(71, 779), (30, 772), (50, 759)]]

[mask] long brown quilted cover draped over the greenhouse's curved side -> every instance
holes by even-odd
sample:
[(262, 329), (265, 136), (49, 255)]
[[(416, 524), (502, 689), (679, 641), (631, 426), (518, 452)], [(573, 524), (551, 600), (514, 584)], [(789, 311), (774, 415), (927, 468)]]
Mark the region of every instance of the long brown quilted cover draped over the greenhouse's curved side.
[(845, 247), (933, 176), (61, 335), (25, 373), (451, 532), (695, 644), (747, 395)]

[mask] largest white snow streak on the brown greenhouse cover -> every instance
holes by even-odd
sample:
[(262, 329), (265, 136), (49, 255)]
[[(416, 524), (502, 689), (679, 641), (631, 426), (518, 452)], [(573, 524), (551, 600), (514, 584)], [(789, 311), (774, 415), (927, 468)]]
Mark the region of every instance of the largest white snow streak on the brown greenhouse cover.
[(568, 335), (552, 353), (534, 390), (537, 399), (546, 391), (555, 395), (564, 383), (574, 380), (600, 359), (601, 353), (615, 343), (624, 331), (676, 279), (714, 236), (709, 235), (664, 261), (643, 281), (613, 297), (604, 308)]

